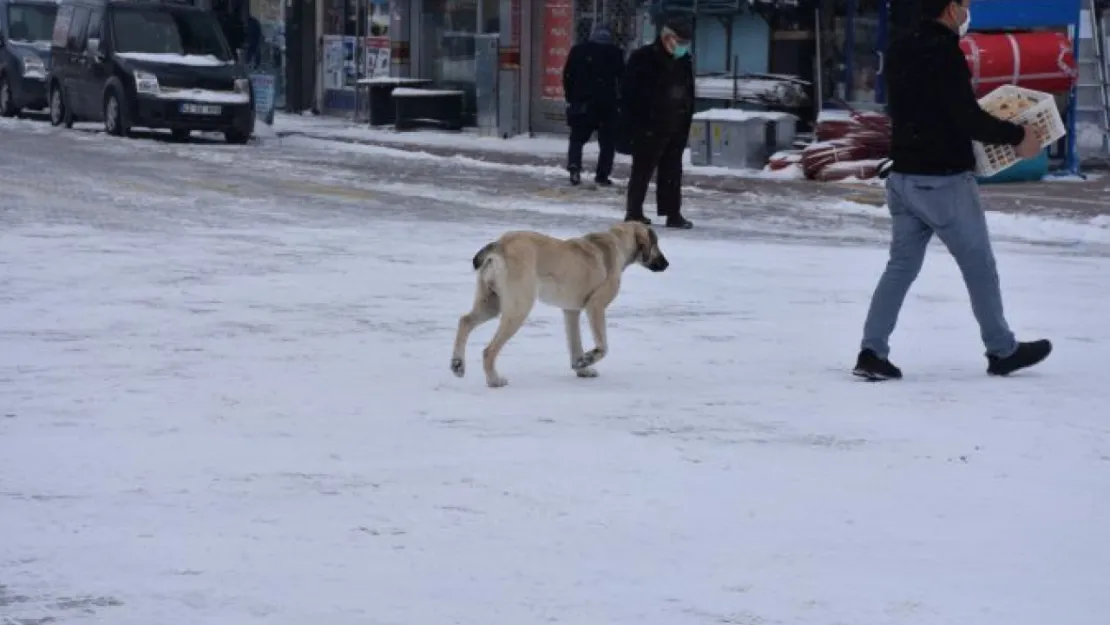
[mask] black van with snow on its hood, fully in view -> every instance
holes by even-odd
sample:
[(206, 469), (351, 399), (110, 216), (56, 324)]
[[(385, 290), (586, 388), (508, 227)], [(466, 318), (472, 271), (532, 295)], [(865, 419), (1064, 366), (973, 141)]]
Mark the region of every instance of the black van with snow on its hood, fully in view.
[(211, 11), (192, 0), (61, 0), (47, 79), (50, 122), (223, 132), (254, 130), (251, 81)]

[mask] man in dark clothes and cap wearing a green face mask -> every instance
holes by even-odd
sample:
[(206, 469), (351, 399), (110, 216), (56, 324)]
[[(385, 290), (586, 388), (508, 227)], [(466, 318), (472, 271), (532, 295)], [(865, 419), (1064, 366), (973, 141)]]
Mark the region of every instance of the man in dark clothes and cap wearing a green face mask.
[(655, 174), (656, 212), (666, 225), (694, 225), (682, 211), (683, 152), (694, 119), (693, 38), (688, 18), (670, 18), (653, 43), (628, 57), (620, 95), (620, 148), (632, 154), (625, 221), (652, 223), (644, 199)]

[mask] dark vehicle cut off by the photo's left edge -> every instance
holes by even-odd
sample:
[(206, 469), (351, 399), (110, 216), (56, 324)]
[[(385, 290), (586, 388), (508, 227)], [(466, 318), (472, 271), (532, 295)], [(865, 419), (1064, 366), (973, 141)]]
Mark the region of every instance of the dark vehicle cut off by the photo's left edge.
[(0, 0), (0, 115), (47, 108), (54, 0)]

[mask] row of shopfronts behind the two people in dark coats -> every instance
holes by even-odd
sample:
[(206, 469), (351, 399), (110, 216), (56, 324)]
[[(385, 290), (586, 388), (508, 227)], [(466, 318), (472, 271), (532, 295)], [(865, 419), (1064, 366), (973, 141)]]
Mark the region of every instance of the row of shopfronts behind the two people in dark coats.
[(284, 20), (283, 83), (294, 110), (350, 115), (360, 79), (421, 78), (463, 91), (466, 121), (483, 133), (566, 132), (569, 48), (604, 22), (630, 51), (673, 12), (695, 17), (699, 75), (817, 77), (815, 99), (884, 101), (890, 0), (251, 1), (268, 24)]

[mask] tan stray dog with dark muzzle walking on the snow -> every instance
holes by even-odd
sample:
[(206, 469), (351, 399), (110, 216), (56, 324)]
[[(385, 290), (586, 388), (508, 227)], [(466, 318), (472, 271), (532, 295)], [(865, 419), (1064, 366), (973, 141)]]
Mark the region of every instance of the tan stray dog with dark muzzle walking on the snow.
[[(555, 239), (538, 232), (507, 232), (474, 255), (478, 272), (474, 306), (458, 320), (451, 371), (466, 373), (466, 340), (478, 325), (501, 315), (497, 332), (482, 351), (486, 384), (504, 386), (497, 373), (497, 354), (524, 325), (536, 298), (563, 309), (571, 369), (578, 377), (596, 377), (593, 365), (605, 357), (605, 309), (620, 291), (620, 274), (633, 263), (653, 272), (670, 263), (659, 251), (659, 239), (650, 228), (625, 222), (606, 232), (578, 239)], [(578, 319), (586, 311), (594, 349), (583, 352)]]

